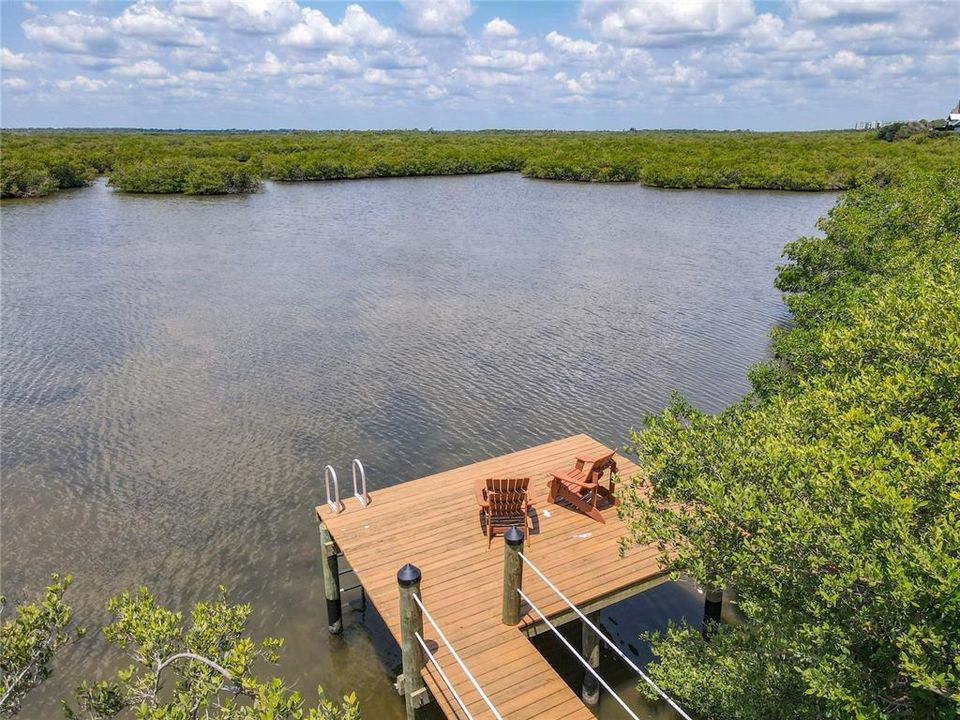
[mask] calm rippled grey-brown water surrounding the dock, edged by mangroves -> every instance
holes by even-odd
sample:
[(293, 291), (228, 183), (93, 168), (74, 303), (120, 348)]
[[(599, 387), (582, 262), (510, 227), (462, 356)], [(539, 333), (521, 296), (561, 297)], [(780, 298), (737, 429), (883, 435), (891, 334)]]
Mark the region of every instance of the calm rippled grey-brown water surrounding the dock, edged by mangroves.
[[(673, 390), (720, 409), (786, 318), (784, 243), (834, 199), (505, 174), (4, 203), (3, 591), (73, 572), (96, 625), (139, 583), (183, 609), (223, 583), (308, 698), (399, 718), (376, 613), (326, 632), (324, 464), (360, 457), (375, 489), (577, 432), (622, 445)], [(701, 608), (670, 585), (604, 624), (645, 657), (639, 632)], [(112, 653), (91, 634), (22, 716), (59, 716)]]

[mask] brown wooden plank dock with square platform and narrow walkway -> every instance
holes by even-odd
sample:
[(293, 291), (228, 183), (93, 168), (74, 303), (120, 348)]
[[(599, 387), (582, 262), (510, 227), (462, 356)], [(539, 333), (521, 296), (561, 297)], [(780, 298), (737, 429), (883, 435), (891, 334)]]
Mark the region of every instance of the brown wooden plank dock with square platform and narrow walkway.
[[(400, 643), (397, 571), (405, 563), (420, 568), (421, 597), (443, 633), (470, 668), (505, 720), (582, 718), (593, 714), (544, 660), (528, 635), (544, 626), (525, 605), (519, 627), (501, 623), (503, 538), (487, 549), (474, 499), (474, 483), (488, 477), (530, 477), (538, 522), (524, 553), (582, 611), (592, 612), (663, 582), (655, 548), (635, 548), (625, 557), (618, 540), (626, 534), (615, 508), (603, 511), (606, 524), (559, 505), (548, 505), (551, 470), (573, 464), (580, 452), (600, 448), (586, 435), (484, 460), (371, 493), (361, 508), (351, 498), (337, 514), (316, 509), (346, 562), (356, 571), (367, 597)], [(616, 456), (619, 474), (639, 468)], [(523, 590), (553, 620), (572, 612), (529, 568)], [(424, 620), (427, 642), (475, 718), (490, 718), (484, 704), (455, 660)], [(576, 658), (569, 659), (576, 663)], [(448, 718), (464, 719), (439, 674), (428, 662), (424, 681)]]

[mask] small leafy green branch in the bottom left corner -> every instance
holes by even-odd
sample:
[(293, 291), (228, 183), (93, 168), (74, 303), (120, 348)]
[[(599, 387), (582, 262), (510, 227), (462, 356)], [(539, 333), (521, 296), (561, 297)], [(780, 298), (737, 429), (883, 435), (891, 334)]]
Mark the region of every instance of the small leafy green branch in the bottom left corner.
[[(52, 575), (43, 596), (16, 606), (0, 624), (0, 714), (15, 715), (23, 697), (50, 675), (54, 653), (82, 630), (72, 629), (72, 611), (63, 596), (72, 578)], [(6, 610), (0, 596), (0, 616)]]

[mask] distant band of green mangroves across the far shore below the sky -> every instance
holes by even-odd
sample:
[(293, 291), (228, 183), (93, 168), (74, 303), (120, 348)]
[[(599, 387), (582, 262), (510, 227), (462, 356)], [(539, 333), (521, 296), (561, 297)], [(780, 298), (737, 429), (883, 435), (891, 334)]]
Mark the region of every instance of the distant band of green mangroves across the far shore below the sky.
[[(341, 180), (519, 171), (527, 177), (671, 188), (838, 190), (960, 163), (960, 138), (878, 142), (872, 134), (708, 132), (23, 132), (2, 135), (3, 197), (108, 173), (124, 192), (251, 192), (259, 180)], [(919, 142), (922, 141), (922, 142)], [(75, 168), (76, 170), (76, 168)], [(9, 176), (9, 177), (8, 177)], [(59, 176), (58, 176), (59, 177)]]

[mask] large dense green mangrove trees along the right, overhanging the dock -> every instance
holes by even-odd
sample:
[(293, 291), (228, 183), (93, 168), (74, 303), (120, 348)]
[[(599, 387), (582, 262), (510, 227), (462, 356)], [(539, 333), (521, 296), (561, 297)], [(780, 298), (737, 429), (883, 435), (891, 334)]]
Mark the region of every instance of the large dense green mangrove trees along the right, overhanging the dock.
[(632, 434), (631, 540), (746, 622), (654, 638), (704, 718), (960, 711), (960, 180), (848, 193), (787, 247), (795, 326), (719, 415), (675, 398)]

